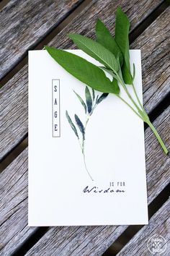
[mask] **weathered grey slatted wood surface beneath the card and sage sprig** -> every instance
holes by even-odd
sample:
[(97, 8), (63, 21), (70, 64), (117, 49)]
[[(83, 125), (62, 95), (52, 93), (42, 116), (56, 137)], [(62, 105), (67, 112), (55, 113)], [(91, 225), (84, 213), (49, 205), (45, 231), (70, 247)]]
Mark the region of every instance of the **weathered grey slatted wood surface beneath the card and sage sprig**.
[[(47, 43), (57, 48), (74, 48), (66, 34), (76, 32), (94, 38), (97, 17), (113, 31), (118, 5), (130, 18), (130, 47), (142, 51), (144, 106), (169, 148), (170, 7), (166, 1), (11, 0), (6, 3), (3, 0), (0, 255), (152, 255), (147, 242), (154, 234), (164, 236), (167, 242), (164, 255), (170, 255), (170, 207), (164, 195), (169, 184), (169, 155), (164, 155), (148, 127), (145, 129), (148, 205), (153, 205), (155, 210), (149, 225), (139, 229), (127, 244), (124, 242), (117, 249), (128, 226), (27, 226), (27, 64), (24, 64), (27, 51), (40, 49)], [(24, 148), (23, 140), (26, 140)], [(19, 150), (16, 155), (21, 145), (22, 152)], [(156, 208), (159, 198), (163, 200)]]

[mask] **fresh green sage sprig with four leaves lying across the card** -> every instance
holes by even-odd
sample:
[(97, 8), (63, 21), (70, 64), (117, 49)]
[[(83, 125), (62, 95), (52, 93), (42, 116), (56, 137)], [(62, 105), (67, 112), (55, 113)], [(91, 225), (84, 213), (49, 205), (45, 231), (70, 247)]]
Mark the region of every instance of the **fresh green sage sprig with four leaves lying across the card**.
[[(151, 127), (158, 142), (161, 144), (164, 152), (167, 154), (169, 151), (158, 135), (156, 128), (153, 127), (148, 114), (146, 114), (143, 108), (138, 94), (135, 90), (133, 80), (135, 78), (135, 65), (133, 64), (133, 74), (130, 72), (130, 54), (129, 54), (129, 28), (130, 22), (128, 17), (120, 7), (116, 11), (115, 22), (115, 38), (101, 20), (97, 20), (96, 35), (97, 40), (91, 40), (84, 35), (69, 34), (68, 36), (82, 51), (89, 56), (99, 61), (103, 66), (97, 67), (91, 64), (89, 61), (76, 56), (75, 54), (68, 53), (67, 51), (59, 50), (50, 46), (45, 46), (50, 56), (55, 59), (64, 69), (70, 74), (84, 82), (94, 90), (99, 90), (102, 93), (113, 93), (121, 101), (123, 101), (132, 111), (149, 127)], [(110, 81), (104, 72), (108, 72), (112, 75), (112, 81)], [(130, 94), (128, 86), (131, 85), (135, 94), (135, 99)], [(120, 86), (125, 90), (125, 93), (130, 99), (129, 104), (124, 98), (120, 96)], [(86, 92), (88, 94), (88, 91)], [(81, 99), (79, 98), (81, 101)], [(97, 99), (99, 101), (99, 98)], [(88, 98), (89, 106), (86, 111), (91, 110), (91, 98)], [(81, 104), (84, 106), (83, 101)], [(73, 127), (72, 127), (73, 129)]]

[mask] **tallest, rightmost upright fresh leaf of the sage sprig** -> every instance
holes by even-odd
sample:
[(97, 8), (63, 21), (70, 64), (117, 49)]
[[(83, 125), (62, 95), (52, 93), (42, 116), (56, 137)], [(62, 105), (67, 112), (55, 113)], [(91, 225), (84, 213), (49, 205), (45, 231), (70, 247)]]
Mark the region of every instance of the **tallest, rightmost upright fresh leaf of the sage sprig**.
[(122, 64), (122, 77), (126, 84), (132, 84), (133, 77), (130, 73), (129, 55), (129, 27), (128, 17), (120, 7), (116, 10), (115, 41), (122, 51), (124, 62)]

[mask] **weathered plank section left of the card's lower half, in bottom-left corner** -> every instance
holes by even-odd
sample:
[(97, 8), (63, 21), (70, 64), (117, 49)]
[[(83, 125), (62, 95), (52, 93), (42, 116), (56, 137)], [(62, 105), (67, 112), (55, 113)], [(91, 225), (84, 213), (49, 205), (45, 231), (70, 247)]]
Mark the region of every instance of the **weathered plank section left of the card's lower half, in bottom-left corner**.
[(33, 227), (27, 229), (27, 149), (1, 174), (0, 194), (0, 255), (12, 255), (35, 231)]

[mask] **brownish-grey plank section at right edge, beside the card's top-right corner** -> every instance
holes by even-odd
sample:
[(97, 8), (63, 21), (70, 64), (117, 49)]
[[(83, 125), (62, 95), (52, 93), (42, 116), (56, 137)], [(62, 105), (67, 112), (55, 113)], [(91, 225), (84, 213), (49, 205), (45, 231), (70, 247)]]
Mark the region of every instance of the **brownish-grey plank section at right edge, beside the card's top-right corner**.
[(132, 44), (142, 54), (143, 102), (148, 113), (170, 92), (169, 17), (170, 7)]

